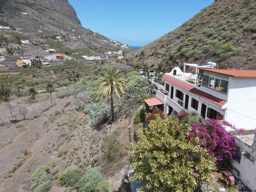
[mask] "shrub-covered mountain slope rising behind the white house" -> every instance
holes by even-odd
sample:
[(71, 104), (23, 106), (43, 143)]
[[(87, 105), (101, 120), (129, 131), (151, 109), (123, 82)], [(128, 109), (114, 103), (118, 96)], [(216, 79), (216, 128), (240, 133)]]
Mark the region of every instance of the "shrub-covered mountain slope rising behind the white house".
[(169, 71), (183, 62), (256, 69), (256, 2), (221, 0), (125, 58), (129, 65)]

